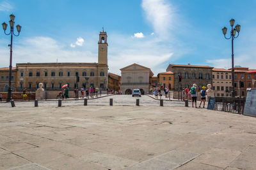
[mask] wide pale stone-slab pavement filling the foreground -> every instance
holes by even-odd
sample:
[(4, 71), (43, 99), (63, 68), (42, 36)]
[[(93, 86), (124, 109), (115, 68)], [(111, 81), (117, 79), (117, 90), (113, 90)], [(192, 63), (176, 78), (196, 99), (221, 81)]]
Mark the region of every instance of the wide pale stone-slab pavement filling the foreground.
[(0, 169), (255, 169), (255, 117), (146, 101), (1, 103)]

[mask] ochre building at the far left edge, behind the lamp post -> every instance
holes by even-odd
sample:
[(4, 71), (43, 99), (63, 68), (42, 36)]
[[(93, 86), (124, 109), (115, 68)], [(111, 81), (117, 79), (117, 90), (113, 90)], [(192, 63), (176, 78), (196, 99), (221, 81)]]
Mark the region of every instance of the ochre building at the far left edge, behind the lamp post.
[[(17, 69), (12, 67), (12, 89), (15, 90)], [(9, 87), (9, 67), (0, 68), (0, 92), (8, 92)]]

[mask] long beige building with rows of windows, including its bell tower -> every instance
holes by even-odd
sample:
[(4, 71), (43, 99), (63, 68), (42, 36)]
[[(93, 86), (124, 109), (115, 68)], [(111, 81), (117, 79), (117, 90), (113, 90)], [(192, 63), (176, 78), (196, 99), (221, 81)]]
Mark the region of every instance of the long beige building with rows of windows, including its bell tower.
[[(38, 83), (44, 84), (46, 90), (60, 90), (68, 84), (70, 89), (76, 87), (108, 87), (108, 42), (107, 34), (99, 34), (98, 63), (87, 62), (52, 62), (17, 64), (17, 89), (36, 90)], [(79, 77), (79, 82), (77, 82)]]

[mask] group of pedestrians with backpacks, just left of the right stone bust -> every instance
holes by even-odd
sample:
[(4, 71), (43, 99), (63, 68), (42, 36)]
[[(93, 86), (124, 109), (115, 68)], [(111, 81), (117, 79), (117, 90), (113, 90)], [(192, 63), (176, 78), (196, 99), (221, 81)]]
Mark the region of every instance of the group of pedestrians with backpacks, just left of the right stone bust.
[[(201, 107), (202, 103), (203, 103), (203, 108), (204, 108), (205, 107), (206, 96), (207, 96), (206, 87), (202, 87), (202, 90), (199, 91), (199, 95), (200, 95), (200, 98), (201, 98), (199, 108)], [(197, 108), (197, 106), (196, 106), (197, 97), (198, 97), (198, 87), (197, 87), (196, 84), (193, 84), (193, 87), (191, 87), (190, 90), (189, 90), (188, 87), (186, 89), (182, 90), (182, 99), (184, 101), (185, 100), (192, 101), (192, 107), (194, 107), (194, 103), (195, 103), (195, 108)]]

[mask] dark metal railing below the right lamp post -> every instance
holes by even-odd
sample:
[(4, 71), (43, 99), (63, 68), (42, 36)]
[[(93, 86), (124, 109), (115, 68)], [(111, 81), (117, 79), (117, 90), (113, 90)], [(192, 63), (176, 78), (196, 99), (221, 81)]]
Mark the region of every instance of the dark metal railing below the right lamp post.
[(244, 113), (245, 97), (215, 97), (215, 110), (231, 113)]

